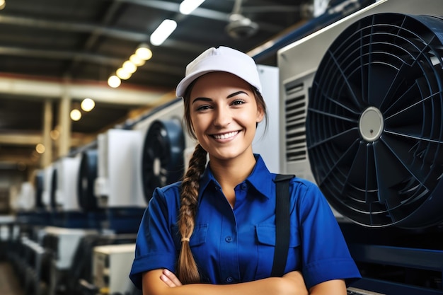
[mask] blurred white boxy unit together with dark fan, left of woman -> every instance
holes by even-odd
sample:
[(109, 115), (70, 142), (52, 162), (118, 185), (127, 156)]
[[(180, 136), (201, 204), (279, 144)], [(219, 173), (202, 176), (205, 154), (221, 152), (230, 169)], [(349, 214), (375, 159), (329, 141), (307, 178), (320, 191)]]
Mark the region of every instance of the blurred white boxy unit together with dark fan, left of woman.
[(182, 177), (185, 148), (193, 145), (185, 138), (182, 117), (182, 101), (173, 100), (99, 135), (93, 192), (110, 231), (137, 233), (154, 188)]

